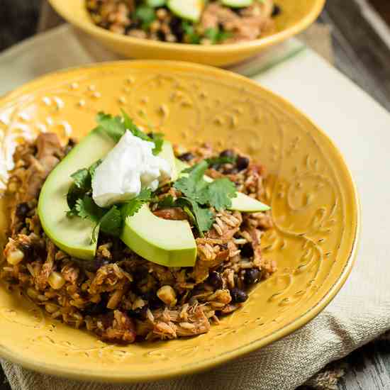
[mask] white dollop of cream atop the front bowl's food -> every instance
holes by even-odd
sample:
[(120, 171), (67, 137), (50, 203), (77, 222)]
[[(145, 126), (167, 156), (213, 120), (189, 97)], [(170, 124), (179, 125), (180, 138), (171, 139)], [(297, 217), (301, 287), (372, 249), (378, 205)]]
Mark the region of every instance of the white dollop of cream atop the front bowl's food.
[(129, 201), (141, 189), (155, 191), (172, 177), (172, 167), (153, 155), (154, 143), (135, 137), (129, 130), (96, 168), (92, 179), (92, 198), (100, 207)]

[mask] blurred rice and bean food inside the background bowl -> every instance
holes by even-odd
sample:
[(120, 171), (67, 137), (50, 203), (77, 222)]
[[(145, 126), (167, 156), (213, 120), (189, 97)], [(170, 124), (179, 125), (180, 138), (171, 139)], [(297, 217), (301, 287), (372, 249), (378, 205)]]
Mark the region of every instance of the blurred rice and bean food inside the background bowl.
[(274, 30), (273, 0), (86, 0), (97, 26), (166, 42), (214, 45), (255, 40)]

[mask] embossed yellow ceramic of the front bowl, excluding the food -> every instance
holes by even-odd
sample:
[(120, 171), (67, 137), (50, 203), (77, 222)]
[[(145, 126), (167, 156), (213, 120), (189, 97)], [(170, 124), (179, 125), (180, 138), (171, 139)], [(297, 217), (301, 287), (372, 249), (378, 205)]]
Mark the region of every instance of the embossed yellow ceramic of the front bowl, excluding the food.
[(94, 127), (98, 111), (120, 108), (140, 125), (147, 117), (174, 143), (237, 146), (268, 167), (267, 198), (276, 228), (264, 235), (262, 246), (279, 270), (210, 333), (127, 347), (52, 321), (0, 286), (1, 356), (63, 377), (155, 380), (256, 350), (301, 327), (330, 302), (350, 273), (357, 245), (359, 209), (350, 172), (308, 118), (248, 79), (154, 61), (52, 74), (0, 101), (1, 152), (9, 155), (12, 140), (40, 131), (55, 131), (64, 141), (82, 137)]

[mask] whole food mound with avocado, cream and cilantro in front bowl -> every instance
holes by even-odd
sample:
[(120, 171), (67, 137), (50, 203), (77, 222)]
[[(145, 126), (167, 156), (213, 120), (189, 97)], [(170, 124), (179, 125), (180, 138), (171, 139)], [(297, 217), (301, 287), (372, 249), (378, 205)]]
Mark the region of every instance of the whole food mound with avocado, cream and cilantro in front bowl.
[(182, 150), (98, 115), (79, 144), (18, 146), (0, 278), (52, 318), (128, 344), (207, 333), (275, 262), (264, 167), (236, 150)]

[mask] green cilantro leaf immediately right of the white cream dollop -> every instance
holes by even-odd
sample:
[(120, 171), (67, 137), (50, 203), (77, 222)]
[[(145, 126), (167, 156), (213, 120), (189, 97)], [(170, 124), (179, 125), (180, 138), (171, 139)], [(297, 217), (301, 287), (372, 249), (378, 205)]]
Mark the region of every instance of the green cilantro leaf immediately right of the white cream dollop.
[[(199, 202), (200, 204), (207, 203), (207, 185), (204, 180), (204, 174), (208, 164), (206, 161), (191, 167), (188, 177), (181, 177), (174, 183), (174, 188), (181, 191), (187, 198)], [(186, 171), (184, 171), (186, 172)]]

